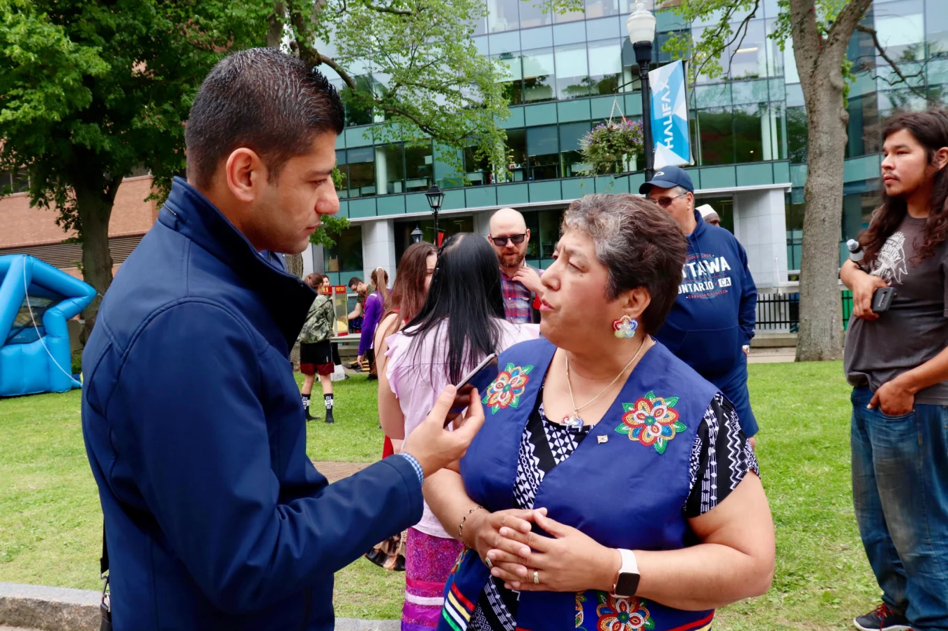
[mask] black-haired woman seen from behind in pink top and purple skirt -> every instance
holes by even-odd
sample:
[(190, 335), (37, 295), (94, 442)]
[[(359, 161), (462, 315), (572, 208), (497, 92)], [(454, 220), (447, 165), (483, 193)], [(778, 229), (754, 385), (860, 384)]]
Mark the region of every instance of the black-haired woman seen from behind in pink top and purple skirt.
[[(379, 391), (386, 434), (404, 439), (447, 384), (459, 383), (488, 354), (537, 336), (538, 326), (504, 319), (501, 273), (491, 246), (475, 234), (454, 235), (442, 247), (425, 306), (402, 332), (388, 338), (385, 375), (390, 388)], [(402, 631), (433, 629), (447, 575), (463, 544), (427, 506), (407, 539)]]

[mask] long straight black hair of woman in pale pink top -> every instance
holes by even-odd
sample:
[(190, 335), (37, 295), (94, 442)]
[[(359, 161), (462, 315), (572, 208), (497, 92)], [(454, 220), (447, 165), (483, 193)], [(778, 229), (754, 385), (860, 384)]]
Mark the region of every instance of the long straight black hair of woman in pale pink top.
[(446, 318), (447, 378), (457, 384), (465, 370), (501, 351), (501, 271), (494, 248), (479, 235), (456, 234), (441, 248), (425, 306), (405, 329), (406, 335), (417, 336), (412, 343), (416, 364), (435, 366), (430, 357), (417, 356), (418, 340)]

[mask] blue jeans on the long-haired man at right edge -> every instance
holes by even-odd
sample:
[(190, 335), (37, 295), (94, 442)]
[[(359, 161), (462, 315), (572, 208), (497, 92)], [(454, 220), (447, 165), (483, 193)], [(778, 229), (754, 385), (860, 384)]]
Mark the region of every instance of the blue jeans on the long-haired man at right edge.
[(883, 602), (948, 631), (948, 406), (887, 416), (852, 390), (852, 500)]

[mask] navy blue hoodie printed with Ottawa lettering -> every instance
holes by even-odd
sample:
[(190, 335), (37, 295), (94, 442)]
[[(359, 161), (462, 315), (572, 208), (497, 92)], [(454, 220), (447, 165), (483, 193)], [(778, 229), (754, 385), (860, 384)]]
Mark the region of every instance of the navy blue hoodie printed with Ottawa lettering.
[(697, 210), (695, 219), (698, 225), (688, 235), (678, 298), (655, 337), (702, 377), (712, 379), (744, 370), (741, 347), (754, 337), (757, 285), (737, 238), (706, 224)]

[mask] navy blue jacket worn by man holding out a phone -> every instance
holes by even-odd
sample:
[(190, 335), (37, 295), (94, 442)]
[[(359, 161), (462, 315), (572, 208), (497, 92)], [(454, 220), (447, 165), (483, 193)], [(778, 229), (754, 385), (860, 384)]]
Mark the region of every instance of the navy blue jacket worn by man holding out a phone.
[(328, 631), (333, 572), (421, 518), (408, 460), (329, 485), (306, 457), (313, 297), (175, 178), (82, 355), (116, 631)]

